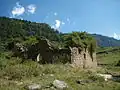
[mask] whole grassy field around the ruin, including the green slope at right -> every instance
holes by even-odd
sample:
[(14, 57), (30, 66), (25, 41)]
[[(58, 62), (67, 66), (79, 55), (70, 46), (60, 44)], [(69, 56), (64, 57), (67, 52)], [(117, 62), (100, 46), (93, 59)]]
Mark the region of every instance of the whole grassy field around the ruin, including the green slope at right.
[[(104, 81), (96, 76), (97, 73), (117, 73), (120, 75), (120, 67), (115, 66), (120, 60), (120, 52), (110, 52), (97, 55), (99, 66), (95, 70), (72, 68), (70, 65), (39, 65), (31, 60), (21, 63), (20, 58), (9, 57), (10, 53), (0, 55), (0, 90), (25, 90), (24, 86), (38, 83), (42, 90), (50, 89), (55, 79), (65, 81), (67, 90), (120, 90), (120, 82)], [(78, 80), (91, 80), (90, 83), (78, 84)], [(49, 88), (48, 88), (49, 87)]]

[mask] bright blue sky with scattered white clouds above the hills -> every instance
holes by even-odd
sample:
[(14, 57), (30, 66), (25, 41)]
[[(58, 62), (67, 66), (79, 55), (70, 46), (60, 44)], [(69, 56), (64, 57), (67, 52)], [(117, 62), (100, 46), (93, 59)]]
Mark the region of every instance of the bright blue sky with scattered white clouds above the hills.
[(120, 0), (1, 0), (0, 16), (120, 38)]

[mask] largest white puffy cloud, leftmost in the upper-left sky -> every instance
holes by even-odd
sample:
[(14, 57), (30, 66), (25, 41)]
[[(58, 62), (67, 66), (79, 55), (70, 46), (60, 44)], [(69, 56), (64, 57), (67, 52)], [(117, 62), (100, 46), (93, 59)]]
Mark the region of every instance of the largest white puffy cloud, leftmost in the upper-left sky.
[(12, 17), (20, 16), (24, 14), (24, 12), (25, 12), (25, 8), (22, 5), (20, 5), (19, 2), (16, 2), (16, 6), (13, 7), (13, 10), (11, 11)]

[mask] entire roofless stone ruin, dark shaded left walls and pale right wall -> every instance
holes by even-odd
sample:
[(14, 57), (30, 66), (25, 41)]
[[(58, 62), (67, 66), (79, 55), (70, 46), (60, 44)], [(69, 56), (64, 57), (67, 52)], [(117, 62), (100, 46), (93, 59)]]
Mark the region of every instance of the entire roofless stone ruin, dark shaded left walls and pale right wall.
[(39, 43), (28, 48), (24, 47), (20, 43), (16, 43), (12, 50), (14, 54), (17, 54), (16, 56), (22, 56), (23, 58), (36, 60), (38, 62), (42, 60), (42, 64), (54, 64), (62, 59), (64, 60), (64, 63), (69, 62), (74, 67), (97, 67), (95, 52), (90, 54), (88, 49), (84, 48), (83, 50), (79, 50), (77, 47), (68, 49), (55, 49), (53, 46), (51, 46), (49, 40), (47, 39), (41, 40)]

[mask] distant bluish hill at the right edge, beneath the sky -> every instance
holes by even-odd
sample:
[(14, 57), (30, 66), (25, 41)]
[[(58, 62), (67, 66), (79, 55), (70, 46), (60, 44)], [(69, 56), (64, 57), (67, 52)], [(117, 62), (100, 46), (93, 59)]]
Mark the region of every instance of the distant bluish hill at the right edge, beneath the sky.
[(99, 34), (92, 34), (97, 40), (97, 45), (101, 47), (116, 47), (120, 46), (120, 40), (112, 37), (107, 37)]

